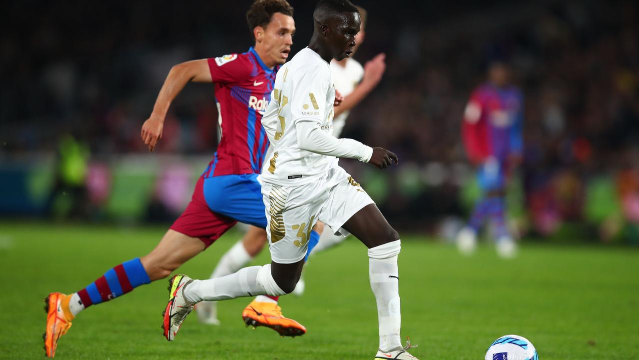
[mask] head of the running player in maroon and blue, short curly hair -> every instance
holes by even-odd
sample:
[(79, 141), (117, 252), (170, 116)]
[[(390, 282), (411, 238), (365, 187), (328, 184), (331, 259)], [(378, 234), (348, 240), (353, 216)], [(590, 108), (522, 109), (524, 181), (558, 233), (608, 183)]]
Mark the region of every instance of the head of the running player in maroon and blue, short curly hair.
[(293, 7), (286, 0), (257, 0), (246, 20), (262, 61), (270, 66), (285, 63), (295, 34)]

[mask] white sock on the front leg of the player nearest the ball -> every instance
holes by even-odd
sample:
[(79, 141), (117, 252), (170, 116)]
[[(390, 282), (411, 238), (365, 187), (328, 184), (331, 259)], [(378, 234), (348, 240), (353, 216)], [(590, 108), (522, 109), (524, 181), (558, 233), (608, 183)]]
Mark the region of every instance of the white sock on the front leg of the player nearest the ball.
[(400, 240), (368, 249), (369, 278), (377, 302), (380, 350), (383, 352), (402, 348), (399, 337), (401, 311), (399, 306), (399, 271), (397, 270), (397, 254), (400, 249)]

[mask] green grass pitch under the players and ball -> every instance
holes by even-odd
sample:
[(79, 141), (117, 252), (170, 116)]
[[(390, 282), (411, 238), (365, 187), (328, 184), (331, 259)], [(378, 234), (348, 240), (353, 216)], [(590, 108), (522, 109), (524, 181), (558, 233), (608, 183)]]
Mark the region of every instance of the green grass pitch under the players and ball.
[[(164, 227), (0, 223), (0, 358), (43, 357), (42, 299), (74, 292), (157, 244)], [(180, 272), (207, 278), (241, 233), (231, 231)], [(543, 360), (639, 359), (639, 251), (525, 244), (516, 260), (484, 246), (462, 258), (450, 246), (404, 237), (399, 257), (402, 336), (420, 359), (483, 359), (505, 334), (527, 337)], [(254, 262), (268, 261), (265, 251)], [(222, 325), (191, 315), (176, 341), (162, 337), (167, 282), (93, 306), (61, 338), (57, 359), (373, 359), (376, 306), (366, 249), (348, 240), (307, 265), (306, 293), (280, 303), (308, 333), (280, 338), (246, 328), (249, 299), (222, 302)]]

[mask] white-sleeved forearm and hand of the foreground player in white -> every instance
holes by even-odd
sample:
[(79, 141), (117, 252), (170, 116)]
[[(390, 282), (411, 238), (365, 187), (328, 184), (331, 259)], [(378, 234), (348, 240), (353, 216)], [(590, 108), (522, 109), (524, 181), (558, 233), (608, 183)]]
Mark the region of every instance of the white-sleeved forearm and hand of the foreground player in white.
[(321, 130), (316, 121), (299, 121), (296, 124), (297, 143), (302, 150), (335, 157), (358, 159), (385, 169), (392, 162), (397, 164), (397, 155), (383, 148), (371, 148), (353, 139), (337, 139)]

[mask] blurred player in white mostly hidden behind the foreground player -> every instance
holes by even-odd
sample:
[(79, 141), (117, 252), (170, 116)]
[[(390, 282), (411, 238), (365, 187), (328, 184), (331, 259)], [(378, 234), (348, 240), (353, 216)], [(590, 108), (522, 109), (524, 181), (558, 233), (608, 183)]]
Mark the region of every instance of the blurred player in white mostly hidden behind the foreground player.
[[(357, 6), (357, 9), (360, 13), (361, 25), (360, 32), (355, 36), (355, 48), (353, 49), (353, 54), (357, 52), (362, 41), (364, 41), (364, 35), (366, 33), (366, 10), (360, 6)], [(370, 61), (367, 61), (365, 67), (362, 67), (357, 60), (352, 58), (345, 58), (341, 61), (333, 59), (330, 62), (330, 70), (333, 76), (335, 89), (344, 97), (341, 104), (335, 107), (333, 136), (339, 138), (351, 109), (364, 100), (364, 98), (380, 82), (381, 76), (384, 74), (384, 70), (386, 68), (384, 60), (385, 54), (378, 54)], [(335, 246), (346, 239), (341, 235), (335, 235), (331, 231), (322, 231), (322, 224), (318, 224), (319, 226), (315, 229), (316, 231), (312, 231), (309, 239), (309, 254), (313, 248), (314, 253), (318, 253), (319, 251)], [(233, 272), (242, 269), (259, 254), (265, 244), (265, 237), (244, 237), (244, 239), (240, 240), (240, 242), (231, 247), (231, 249), (222, 256), (220, 262), (217, 263), (215, 270), (213, 270), (211, 278), (219, 278), (220, 276), (233, 274)], [(295, 294), (301, 295), (302, 292), (304, 292), (304, 280), (300, 279), (300, 282), (295, 288)], [(263, 298), (259, 298), (259, 300), (268, 301), (268, 299)], [(216, 325), (220, 323), (217, 319), (217, 306), (215, 302), (200, 302), (196, 306), (196, 311), (197, 317), (201, 322)], [(250, 306), (247, 306), (247, 308), (243, 311), (242, 316), (246, 317), (252, 312), (253, 311)]]

